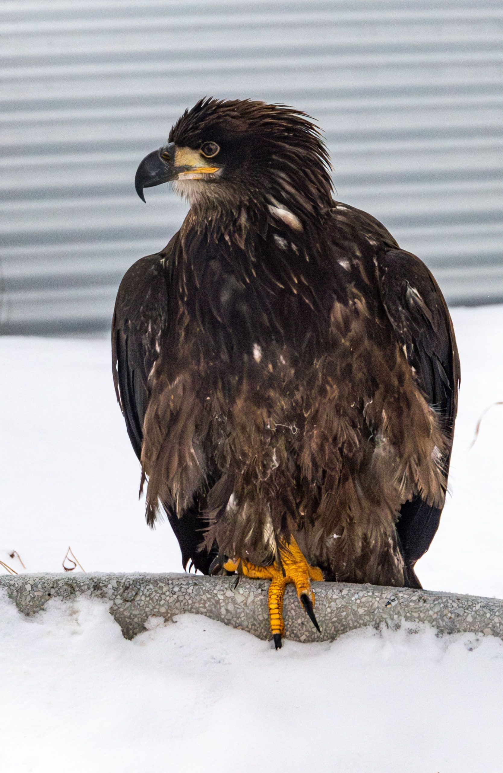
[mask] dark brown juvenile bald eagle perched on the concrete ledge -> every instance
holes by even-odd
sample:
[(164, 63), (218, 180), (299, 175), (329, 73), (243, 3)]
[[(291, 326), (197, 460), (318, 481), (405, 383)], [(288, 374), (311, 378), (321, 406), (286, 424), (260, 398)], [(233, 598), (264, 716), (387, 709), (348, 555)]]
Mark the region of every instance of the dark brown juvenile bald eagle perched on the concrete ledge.
[(332, 198), (306, 114), (197, 102), (140, 163), (191, 209), (120, 284), (113, 379), (184, 567), (420, 587), (447, 488), (459, 360), (427, 267)]

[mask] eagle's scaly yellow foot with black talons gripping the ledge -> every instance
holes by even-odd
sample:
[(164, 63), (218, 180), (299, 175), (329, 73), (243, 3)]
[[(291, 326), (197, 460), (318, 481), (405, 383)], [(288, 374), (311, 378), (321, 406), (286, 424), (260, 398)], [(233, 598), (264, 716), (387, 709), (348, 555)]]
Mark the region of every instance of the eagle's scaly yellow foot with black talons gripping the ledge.
[(271, 581), (268, 591), (268, 610), (272, 638), (274, 639), (276, 649), (281, 648), (281, 638), (282, 635), (285, 635), (285, 623), (283, 621), (285, 587), (289, 583), (295, 585), (299, 601), (306, 609), (313, 625), (319, 631), (319, 625), (313, 611), (315, 596), (311, 590), (310, 581), (320, 581), (323, 579), (322, 570), (318, 567), (309, 566), (293, 537), (288, 545), (280, 544), (279, 554), (282, 567), (276, 561), (270, 567), (257, 567), (255, 564), (250, 564), (249, 561), (240, 558), (234, 561), (228, 560), (224, 564), (224, 569), (229, 572), (234, 572), (241, 566), (241, 572), (245, 577)]

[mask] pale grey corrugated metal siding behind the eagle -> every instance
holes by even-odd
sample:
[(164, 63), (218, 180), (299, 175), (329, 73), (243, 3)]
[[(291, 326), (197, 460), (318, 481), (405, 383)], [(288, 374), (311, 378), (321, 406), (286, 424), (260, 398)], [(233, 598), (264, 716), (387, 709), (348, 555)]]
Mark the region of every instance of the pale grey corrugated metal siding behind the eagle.
[(503, 299), (503, 2), (41, 0), (0, 7), (4, 332), (104, 328), (185, 205), (133, 189), (201, 96), (319, 120), (337, 197), (451, 303)]

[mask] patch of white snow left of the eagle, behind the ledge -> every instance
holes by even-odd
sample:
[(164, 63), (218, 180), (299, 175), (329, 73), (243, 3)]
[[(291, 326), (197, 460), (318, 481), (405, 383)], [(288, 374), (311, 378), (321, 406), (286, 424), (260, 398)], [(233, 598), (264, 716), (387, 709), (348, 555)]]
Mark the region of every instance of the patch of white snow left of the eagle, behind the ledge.
[(169, 525), (147, 528), (140, 465), (112, 383), (110, 339), (0, 337), (0, 560), (62, 571), (181, 571)]

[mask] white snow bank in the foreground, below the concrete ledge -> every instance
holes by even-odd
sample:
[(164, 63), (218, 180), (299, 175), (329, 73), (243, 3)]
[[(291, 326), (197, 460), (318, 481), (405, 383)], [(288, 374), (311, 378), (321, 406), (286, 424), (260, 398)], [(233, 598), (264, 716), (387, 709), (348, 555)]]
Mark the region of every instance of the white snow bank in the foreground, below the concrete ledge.
[(279, 652), (195, 615), (0, 600), (5, 773), (501, 770), (503, 643), (370, 630)]

